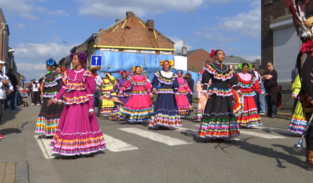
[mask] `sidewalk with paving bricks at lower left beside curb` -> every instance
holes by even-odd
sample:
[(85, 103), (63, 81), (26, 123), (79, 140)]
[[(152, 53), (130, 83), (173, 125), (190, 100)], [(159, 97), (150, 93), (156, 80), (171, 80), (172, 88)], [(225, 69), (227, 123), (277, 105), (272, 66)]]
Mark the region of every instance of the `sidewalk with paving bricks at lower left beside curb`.
[(41, 106), (31, 106), (30, 97), (24, 98), (29, 107), (4, 111), (0, 134), (0, 183), (29, 182), (23, 125), (37, 120)]

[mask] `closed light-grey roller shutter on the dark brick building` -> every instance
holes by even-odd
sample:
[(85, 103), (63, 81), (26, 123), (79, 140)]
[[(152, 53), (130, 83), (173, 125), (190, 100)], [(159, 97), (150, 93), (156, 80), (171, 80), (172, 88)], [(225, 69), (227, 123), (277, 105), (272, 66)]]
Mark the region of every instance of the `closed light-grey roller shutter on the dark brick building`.
[(274, 30), (274, 67), (278, 82), (291, 82), (291, 71), (300, 47), (301, 41), (294, 26)]

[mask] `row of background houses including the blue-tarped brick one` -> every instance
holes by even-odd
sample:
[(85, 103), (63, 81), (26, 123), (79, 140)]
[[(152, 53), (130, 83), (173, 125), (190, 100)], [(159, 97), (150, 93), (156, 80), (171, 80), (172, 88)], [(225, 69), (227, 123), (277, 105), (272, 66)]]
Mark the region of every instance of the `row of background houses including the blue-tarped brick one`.
[[(87, 52), (87, 68), (90, 68), (91, 55), (102, 55), (100, 72), (118, 72), (131, 70), (134, 65), (144, 66), (145, 72), (154, 73), (160, 69), (161, 59), (172, 59), (177, 69), (199, 72), (204, 65), (212, 63), (212, 58), (204, 49), (174, 54), (174, 42), (155, 29), (154, 20), (143, 21), (133, 12), (126, 12), (126, 17), (116, 19), (115, 23), (105, 29), (99, 29), (85, 42), (73, 47), (70, 52)], [(225, 63), (237, 69), (239, 62), (249, 62), (241, 57), (226, 56)], [(59, 61), (60, 66), (72, 68), (69, 56)], [(149, 75), (149, 74), (148, 74)]]

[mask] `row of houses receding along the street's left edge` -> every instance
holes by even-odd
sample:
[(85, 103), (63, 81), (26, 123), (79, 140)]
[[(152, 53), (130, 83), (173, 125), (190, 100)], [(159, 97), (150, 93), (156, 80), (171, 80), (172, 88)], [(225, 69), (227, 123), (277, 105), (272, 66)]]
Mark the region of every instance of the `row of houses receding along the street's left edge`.
[(9, 26), (7, 21), (5, 20), (2, 9), (0, 8), (0, 48), (1, 55), (0, 60), (6, 62), (2, 71), (4, 73), (8, 72), (8, 68), (13, 68), (14, 75), (18, 78), (21, 87), (24, 87), (24, 76), (18, 72), (17, 65), (14, 60), (14, 49), (9, 47)]

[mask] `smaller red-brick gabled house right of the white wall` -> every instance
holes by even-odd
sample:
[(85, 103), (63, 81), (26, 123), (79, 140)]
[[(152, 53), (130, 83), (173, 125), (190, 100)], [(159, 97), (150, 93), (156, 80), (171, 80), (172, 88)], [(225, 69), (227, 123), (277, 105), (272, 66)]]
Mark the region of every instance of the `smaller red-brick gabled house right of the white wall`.
[[(182, 56), (182, 53), (177, 53), (177, 55)], [(186, 57), (187, 70), (192, 72), (199, 72), (205, 65), (213, 63), (210, 53), (202, 48), (188, 51)]]

